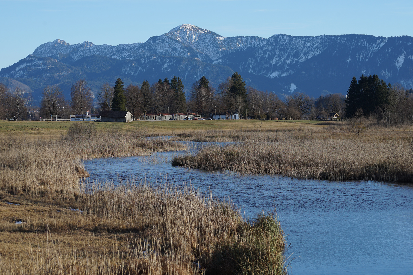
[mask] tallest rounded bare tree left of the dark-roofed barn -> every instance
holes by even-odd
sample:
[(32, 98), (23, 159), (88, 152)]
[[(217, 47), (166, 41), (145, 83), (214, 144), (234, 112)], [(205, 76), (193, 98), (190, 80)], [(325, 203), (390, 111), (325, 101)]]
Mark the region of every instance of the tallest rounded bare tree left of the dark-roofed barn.
[(92, 107), (93, 93), (87, 85), (86, 80), (81, 79), (76, 81), (70, 89), (71, 106), (80, 113), (83, 113), (83, 110), (90, 110)]

